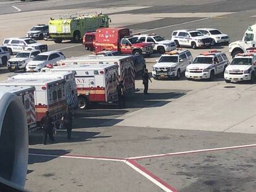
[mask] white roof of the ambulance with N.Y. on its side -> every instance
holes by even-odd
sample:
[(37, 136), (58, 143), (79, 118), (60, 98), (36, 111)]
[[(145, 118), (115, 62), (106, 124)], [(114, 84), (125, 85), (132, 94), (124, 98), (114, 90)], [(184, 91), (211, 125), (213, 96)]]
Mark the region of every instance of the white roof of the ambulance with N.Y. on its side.
[(73, 71), (73, 70), (104, 70), (112, 67), (118, 67), (117, 64), (93, 64), (93, 65), (64, 65), (61, 67), (54, 67), (51, 71)]

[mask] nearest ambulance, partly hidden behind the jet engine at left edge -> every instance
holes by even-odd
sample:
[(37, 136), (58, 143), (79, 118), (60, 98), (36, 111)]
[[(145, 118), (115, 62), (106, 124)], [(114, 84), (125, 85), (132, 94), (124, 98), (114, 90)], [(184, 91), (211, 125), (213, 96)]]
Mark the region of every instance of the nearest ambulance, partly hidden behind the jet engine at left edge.
[(36, 112), (34, 98), (35, 87), (0, 85), (0, 90), (9, 93), (14, 93), (20, 98), (25, 108), (28, 128), (36, 127)]

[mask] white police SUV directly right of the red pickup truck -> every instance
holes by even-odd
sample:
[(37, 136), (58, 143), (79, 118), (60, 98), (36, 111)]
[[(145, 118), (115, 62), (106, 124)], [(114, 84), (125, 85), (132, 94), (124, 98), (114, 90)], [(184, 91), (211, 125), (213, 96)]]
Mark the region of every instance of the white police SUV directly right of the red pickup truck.
[(160, 35), (134, 35), (139, 38), (140, 41), (145, 43), (151, 43), (153, 45), (153, 50), (164, 54), (167, 51), (173, 51), (176, 49), (176, 43), (171, 40), (164, 40)]

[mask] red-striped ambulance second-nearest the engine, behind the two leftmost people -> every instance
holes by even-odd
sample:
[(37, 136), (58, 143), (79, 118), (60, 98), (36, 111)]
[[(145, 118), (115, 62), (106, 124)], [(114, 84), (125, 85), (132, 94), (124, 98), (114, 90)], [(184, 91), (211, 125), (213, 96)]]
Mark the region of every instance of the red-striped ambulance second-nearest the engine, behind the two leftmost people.
[(1, 81), (5, 86), (35, 86), (35, 116), (40, 122), (46, 111), (56, 122), (61, 119), (66, 110), (66, 81), (59, 79), (15, 79)]

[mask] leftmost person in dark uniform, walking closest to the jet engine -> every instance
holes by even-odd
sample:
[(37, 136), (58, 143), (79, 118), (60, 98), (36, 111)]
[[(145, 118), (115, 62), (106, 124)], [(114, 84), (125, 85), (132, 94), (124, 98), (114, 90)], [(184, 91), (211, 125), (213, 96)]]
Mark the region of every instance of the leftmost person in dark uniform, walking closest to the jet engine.
[(45, 117), (41, 119), (41, 125), (43, 127), (43, 130), (45, 131), (45, 134), (43, 136), (43, 144), (46, 144), (47, 142), (47, 136), (49, 135), (49, 139), (51, 142), (54, 142), (54, 137), (53, 137), (53, 118), (50, 117), (49, 112), (46, 111)]

